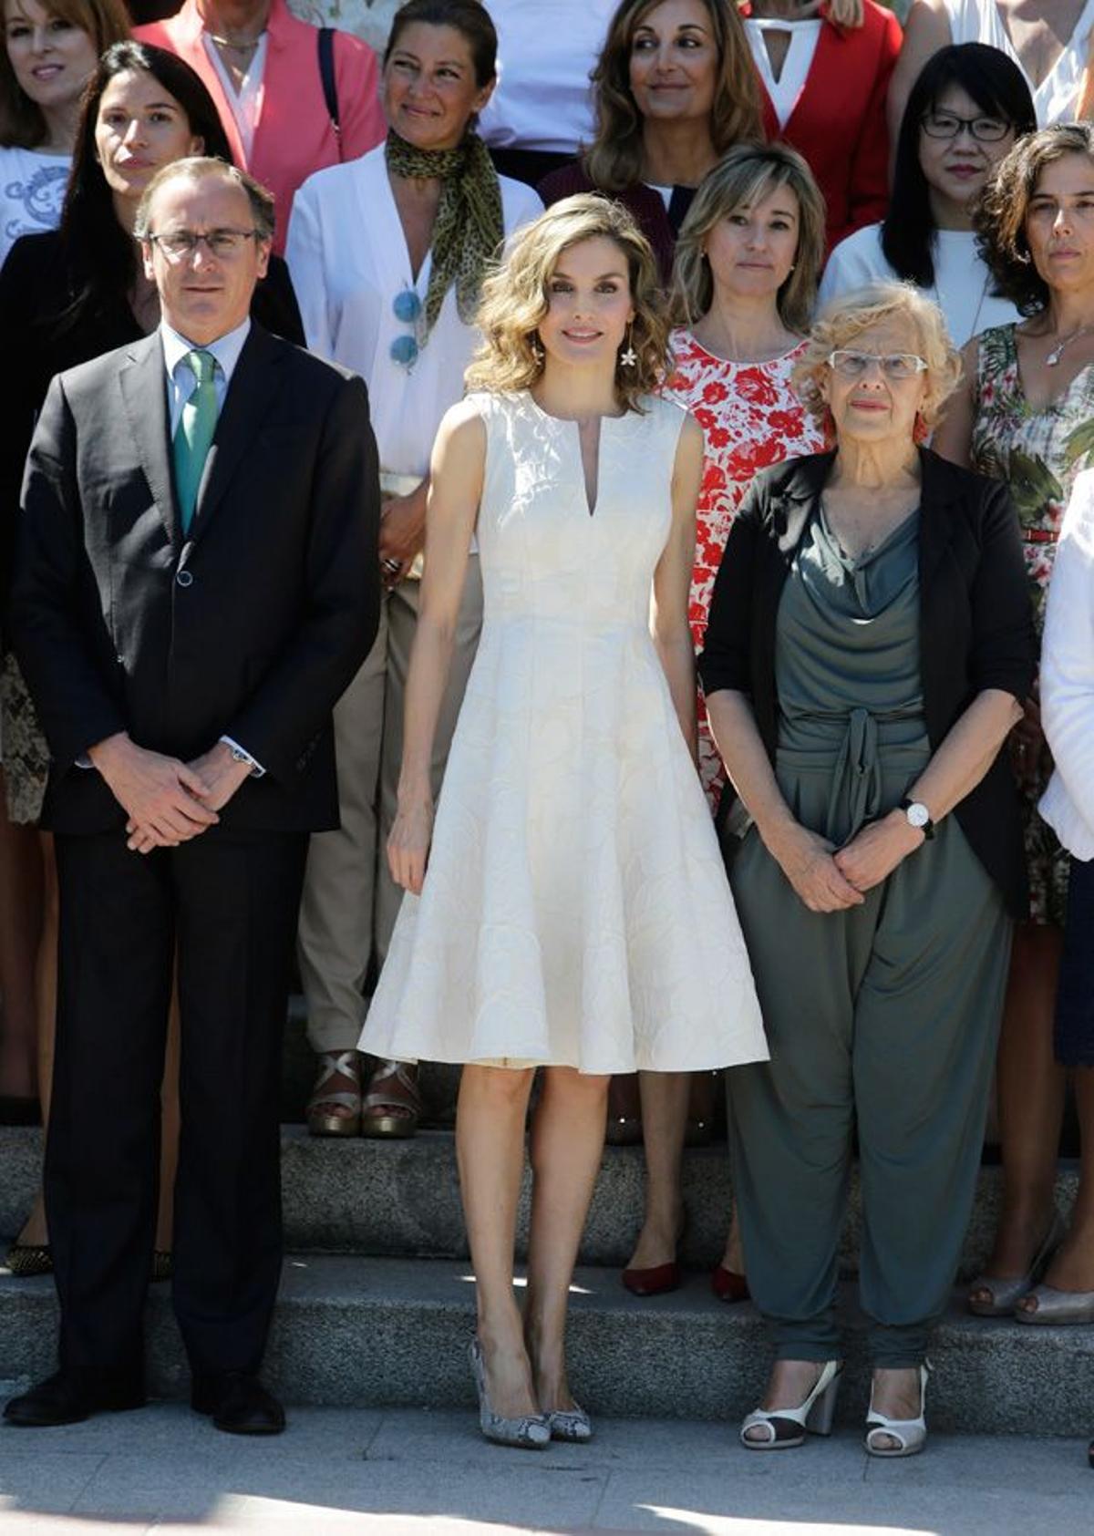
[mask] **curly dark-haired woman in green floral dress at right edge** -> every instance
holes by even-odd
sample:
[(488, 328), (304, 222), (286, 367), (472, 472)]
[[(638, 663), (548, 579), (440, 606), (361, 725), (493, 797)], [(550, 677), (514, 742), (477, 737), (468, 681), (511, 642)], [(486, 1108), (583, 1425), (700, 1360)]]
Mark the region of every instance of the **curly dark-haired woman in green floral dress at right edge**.
[[(1045, 127), (999, 166), (976, 215), (993, 278), (1026, 318), (985, 330), (963, 353), (965, 389), (937, 447), (1009, 485), (1040, 631), (1056, 545), (1082, 470), (1094, 468), (1094, 129)], [(1083, 1087), (1083, 1198), (1071, 1229), (1056, 1209), (1065, 1064), (1053, 1018), (1068, 911), (1068, 854), (1039, 811), (1053, 757), (1037, 690), (1011, 737), (1022, 790), (1031, 922), (1014, 938), (999, 1043), (1003, 1206), (983, 1275), (982, 1316), (1094, 1321), (1094, 1103)]]

